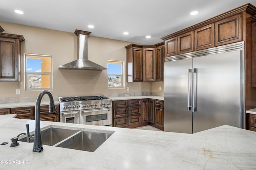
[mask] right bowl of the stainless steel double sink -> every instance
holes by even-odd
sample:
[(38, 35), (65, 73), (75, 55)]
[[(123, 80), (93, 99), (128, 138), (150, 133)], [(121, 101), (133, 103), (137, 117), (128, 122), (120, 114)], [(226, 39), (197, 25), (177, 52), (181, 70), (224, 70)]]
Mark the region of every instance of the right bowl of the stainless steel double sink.
[(94, 152), (112, 134), (113, 133), (79, 131), (56, 146)]

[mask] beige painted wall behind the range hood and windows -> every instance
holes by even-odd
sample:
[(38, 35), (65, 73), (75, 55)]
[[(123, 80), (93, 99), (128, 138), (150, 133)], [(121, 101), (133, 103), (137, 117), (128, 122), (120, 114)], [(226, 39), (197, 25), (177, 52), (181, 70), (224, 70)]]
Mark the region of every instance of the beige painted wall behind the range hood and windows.
[[(24, 53), (52, 55), (53, 90), (51, 92), (53, 95), (81, 96), (102, 95), (103, 93), (128, 93), (126, 89), (108, 89), (107, 70), (58, 69), (59, 65), (77, 59), (77, 36), (74, 33), (7, 22), (0, 22), (0, 26), (5, 30), (3, 33), (19, 34), (25, 38), (25, 41), (22, 42), (21, 50), (22, 81), (0, 81), (0, 98), (36, 97), (40, 93), (40, 91), (24, 91)], [(124, 46), (128, 44), (130, 42), (89, 36), (88, 59), (104, 67), (107, 67), (108, 59), (126, 61), (126, 49)], [(162, 85), (162, 91), (159, 91), (159, 85)], [(129, 93), (149, 91), (163, 93), (163, 82), (125, 82), (125, 86), (129, 86)], [(15, 89), (20, 89), (20, 95), (15, 94)]]

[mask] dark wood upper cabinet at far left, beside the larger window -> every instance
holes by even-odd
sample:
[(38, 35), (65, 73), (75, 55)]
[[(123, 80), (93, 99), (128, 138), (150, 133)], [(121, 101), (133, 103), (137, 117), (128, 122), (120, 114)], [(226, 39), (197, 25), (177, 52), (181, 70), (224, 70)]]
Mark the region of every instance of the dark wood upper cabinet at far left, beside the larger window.
[(21, 42), (24, 37), (0, 33), (0, 81), (21, 81)]

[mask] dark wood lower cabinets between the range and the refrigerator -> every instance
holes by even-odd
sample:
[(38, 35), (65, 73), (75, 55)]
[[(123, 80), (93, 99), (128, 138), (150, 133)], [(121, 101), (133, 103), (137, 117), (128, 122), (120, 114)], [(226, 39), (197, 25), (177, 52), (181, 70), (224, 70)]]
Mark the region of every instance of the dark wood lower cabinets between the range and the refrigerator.
[[(128, 103), (128, 106), (123, 107), (124, 103)], [(112, 105), (113, 127), (135, 128), (152, 125), (164, 130), (164, 101), (162, 100), (123, 100), (113, 101)]]

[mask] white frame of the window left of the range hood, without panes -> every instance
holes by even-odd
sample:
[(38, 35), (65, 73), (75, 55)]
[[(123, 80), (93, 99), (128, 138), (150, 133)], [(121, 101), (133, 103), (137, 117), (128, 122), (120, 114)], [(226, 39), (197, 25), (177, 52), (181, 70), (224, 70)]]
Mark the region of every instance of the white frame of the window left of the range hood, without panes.
[[(34, 71), (27, 71), (27, 57), (50, 57), (51, 58), (51, 71), (50, 72), (34, 72)], [(40, 54), (30, 54), (24, 53), (24, 90), (25, 91), (42, 91), (42, 90), (52, 90), (52, 55), (40, 55)], [(49, 88), (28, 88), (28, 75), (49, 75), (50, 76), (50, 87)]]

